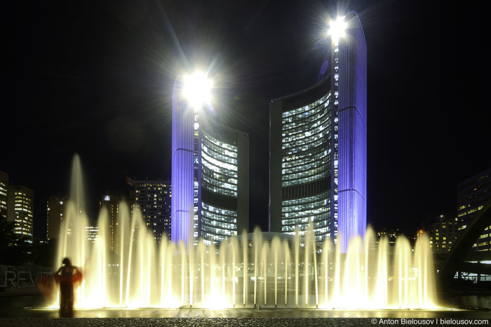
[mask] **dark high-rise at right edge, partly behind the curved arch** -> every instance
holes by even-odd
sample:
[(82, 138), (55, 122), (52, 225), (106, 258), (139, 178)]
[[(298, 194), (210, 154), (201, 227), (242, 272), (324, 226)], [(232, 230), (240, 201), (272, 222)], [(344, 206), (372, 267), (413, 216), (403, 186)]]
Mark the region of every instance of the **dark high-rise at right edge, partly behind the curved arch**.
[[(491, 200), (491, 168), (472, 176), (457, 185), (457, 219), (459, 232), (476, 216), (484, 205)], [(491, 249), (491, 226), (487, 226), (472, 250)]]

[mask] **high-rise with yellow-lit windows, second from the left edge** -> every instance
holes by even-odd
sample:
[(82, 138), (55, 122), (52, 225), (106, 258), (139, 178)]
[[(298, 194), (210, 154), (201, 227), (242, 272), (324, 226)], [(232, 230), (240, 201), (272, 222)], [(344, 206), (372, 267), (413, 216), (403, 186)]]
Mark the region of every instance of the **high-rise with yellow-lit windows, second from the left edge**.
[(32, 242), (34, 233), (34, 192), (26, 186), (8, 186), (9, 221), (15, 223), (14, 232)]

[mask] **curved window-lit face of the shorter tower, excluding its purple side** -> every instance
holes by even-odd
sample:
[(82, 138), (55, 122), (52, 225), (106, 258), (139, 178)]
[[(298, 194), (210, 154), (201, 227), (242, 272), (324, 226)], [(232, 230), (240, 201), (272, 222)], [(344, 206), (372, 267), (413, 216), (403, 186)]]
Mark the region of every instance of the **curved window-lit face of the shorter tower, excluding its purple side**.
[(198, 148), (198, 230), (206, 243), (247, 232), (249, 136), (201, 120)]

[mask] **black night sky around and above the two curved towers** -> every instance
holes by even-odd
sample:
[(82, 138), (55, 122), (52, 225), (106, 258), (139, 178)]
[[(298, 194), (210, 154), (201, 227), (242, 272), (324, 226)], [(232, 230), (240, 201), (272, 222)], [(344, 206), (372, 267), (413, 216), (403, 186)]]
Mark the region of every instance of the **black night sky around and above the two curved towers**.
[[(90, 212), (127, 173), (170, 178), (176, 75), (209, 71), (218, 119), (250, 133), (250, 224), (267, 220), (269, 100), (316, 82), (327, 20), (359, 13), (368, 46), (368, 217), (413, 231), (456, 213), (456, 184), (491, 167), (485, 45), (472, 4), (428, 1), (14, 2), (4, 12), (0, 170), (68, 193), (79, 153)], [(441, 3), (447, 4), (447, 3)]]

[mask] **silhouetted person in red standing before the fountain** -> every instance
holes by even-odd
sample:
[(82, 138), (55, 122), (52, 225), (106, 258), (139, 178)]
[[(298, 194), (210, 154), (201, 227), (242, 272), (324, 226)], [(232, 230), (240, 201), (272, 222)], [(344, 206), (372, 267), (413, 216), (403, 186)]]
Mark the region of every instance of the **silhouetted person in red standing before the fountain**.
[(60, 284), (60, 313), (71, 313), (73, 311), (73, 284), (82, 279), (82, 273), (77, 267), (72, 266), (70, 259), (65, 258), (60, 267), (53, 275)]

